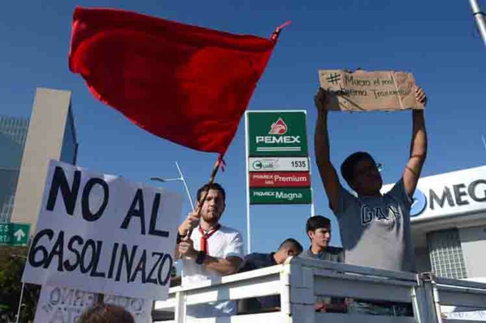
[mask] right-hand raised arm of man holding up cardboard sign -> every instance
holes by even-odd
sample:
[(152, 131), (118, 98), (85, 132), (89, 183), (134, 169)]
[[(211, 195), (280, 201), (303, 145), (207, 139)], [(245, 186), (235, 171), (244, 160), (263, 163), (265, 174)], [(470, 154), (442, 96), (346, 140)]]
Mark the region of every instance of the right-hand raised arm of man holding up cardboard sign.
[[(416, 100), (427, 103), (427, 97), (422, 88), (415, 91)], [(425, 131), (424, 110), (412, 110), (412, 142), (410, 144), (410, 157), (403, 172), (403, 183), (408, 196), (413, 196), (417, 187), (418, 178), (427, 156), (427, 132)]]

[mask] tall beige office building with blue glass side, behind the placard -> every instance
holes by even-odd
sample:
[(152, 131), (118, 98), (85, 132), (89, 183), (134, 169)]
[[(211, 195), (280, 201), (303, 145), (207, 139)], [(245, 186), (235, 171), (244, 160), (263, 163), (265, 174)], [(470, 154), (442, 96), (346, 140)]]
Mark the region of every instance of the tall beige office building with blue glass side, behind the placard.
[(78, 142), (71, 92), (37, 88), (21, 157), (11, 222), (30, 223), (39, 213), (50, 159), (76, 164)]

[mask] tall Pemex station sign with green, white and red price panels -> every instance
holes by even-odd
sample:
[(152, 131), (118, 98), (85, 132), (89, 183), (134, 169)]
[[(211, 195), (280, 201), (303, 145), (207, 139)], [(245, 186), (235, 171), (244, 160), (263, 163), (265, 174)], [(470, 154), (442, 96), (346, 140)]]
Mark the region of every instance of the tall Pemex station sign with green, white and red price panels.
[(310, 204), (305, 111), (247, 111), (250, 204)]

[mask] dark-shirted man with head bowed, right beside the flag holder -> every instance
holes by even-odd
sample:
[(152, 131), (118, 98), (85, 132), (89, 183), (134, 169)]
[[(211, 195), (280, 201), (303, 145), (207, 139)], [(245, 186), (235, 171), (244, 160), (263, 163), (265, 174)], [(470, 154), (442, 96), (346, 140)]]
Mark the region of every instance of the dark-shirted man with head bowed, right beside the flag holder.
[[(298, 256), (302, 245), (295, 239), (286, 239), (278, 250), (271, 253), (253, 252), (245, 256), (245, 261), (239, 272), (245, 272), (264, 267), (280, 265), (291, 256)], [(238, 314), (272, 312), (280, 309), (280, 295), (262, 296), (242, 299), (238, 302)]]

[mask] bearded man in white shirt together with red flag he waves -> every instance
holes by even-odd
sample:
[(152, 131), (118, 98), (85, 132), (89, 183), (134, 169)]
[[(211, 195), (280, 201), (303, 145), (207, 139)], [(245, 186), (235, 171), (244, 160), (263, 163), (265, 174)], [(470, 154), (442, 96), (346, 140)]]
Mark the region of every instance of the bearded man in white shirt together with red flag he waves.
[[(181, 236), (191, 232), (177, 249), (183, 285), (239, 269), (241, 236), (219, 225), (225, 191), (214, 178), (278, 35), (289, 23), (261, 38), (124, 10), (74, 11), (69, 68), (95, 98), (154, 135), (218, 153), (209, 183), (197, 193), (199, 213), (190, 213), (179, 227)], [(234, 312), (230, 302), (187, 310), (189, 316)]]

